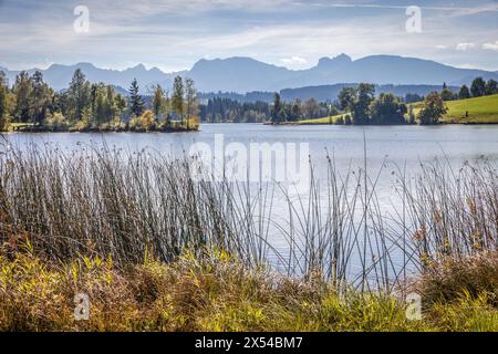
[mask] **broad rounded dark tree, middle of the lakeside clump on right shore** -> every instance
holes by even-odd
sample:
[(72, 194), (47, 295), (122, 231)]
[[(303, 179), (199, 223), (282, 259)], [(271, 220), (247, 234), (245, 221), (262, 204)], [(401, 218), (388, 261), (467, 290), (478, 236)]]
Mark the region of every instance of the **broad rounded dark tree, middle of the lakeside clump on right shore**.
[(373, 124), (404, 124), (406, 105), (392, 93), (382, 93), (378, 100), (370, 106), (371, 123)]

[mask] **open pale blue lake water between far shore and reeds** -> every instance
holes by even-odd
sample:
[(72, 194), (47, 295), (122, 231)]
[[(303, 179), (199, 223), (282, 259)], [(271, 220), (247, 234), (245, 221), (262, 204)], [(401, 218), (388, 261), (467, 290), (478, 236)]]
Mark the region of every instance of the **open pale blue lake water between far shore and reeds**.
[[(466, 160), (481, 157), (498, 160), (498, 125), (445, 125), (445, 126), (264, 126), (260, 124), (203, 124), (196, 133), (108, 133), (108, 134), (8, 134), (11, 144), (23, 146), (28, 143), (51, 144), (62, 149), (73, 150), (108, 147), (141, 150), (151, 148), (164, 154), (179, 156), (194, 143), (215, 146), (215, 137), (224, 138), (225, 145), (241, 143), (308, 143), (309, 153), (321, 178), (326, 173), (326, 152), (334, 156), (339, 173), (357, 170), (364, 166), (365, 147), (369, 173), (380, 173), (376, 194), (380, 205), (387, 211), (400, 206), (394, 190), (397, 168), (407, 176), (421, 171), (421, 163), (444, 159), (453, 167)], [(365, 145), (366, 144), (366, 145)], [(276, 197), (273, 218), (284, 219), (284, 199)], [(278, 230), (272, 233), (272, 246), (284, 249), (286, 242)]]

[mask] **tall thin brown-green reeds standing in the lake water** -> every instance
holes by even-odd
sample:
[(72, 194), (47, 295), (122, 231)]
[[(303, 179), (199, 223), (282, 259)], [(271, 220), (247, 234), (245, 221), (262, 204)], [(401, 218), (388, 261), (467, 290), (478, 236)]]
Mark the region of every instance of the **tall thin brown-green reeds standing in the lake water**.
[[(152, 149), (3, 146), (0, 237), (12, 247), (27, 237), (55, 260), (98, 253), (118, 264), (143, 262), (151, 252), (172, 262), (187, 249), (199, 257), (224, 249), (249, 267), (375, 292), (445, 256), (497, 249), (491, 163), (454, 171), (436, 162), (415, 180), (400, 173), (394, 212), (376, 194), (381, 170), (365, 164), (339, 171), (333, 157), (326, 164), (325, 180), (310, 165), (309, 191), (295, 197), (277, 183), (199, 180), (190, 157)], [(276, 215), (277, 201), (287, 215)]]

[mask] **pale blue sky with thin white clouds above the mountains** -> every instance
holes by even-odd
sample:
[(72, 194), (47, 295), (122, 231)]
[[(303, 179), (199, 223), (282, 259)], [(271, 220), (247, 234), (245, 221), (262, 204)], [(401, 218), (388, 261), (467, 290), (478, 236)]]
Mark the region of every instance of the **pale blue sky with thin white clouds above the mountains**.
[(300, 70), (341, 53), (498, 71), (498, 0), (0, 0), (0, 66), (10, 70), (173, 72), (230, 56)]

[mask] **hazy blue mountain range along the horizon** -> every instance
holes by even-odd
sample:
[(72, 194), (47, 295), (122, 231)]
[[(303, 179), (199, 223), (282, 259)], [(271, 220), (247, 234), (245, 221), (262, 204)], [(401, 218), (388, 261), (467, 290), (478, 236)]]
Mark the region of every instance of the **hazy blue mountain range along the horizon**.
[[(191, 77), (200, 92), (252, 91), (274, 92), (283, 88), (333, 85), (341, 83), (369, 82), (377, 85), (448, 85), (470, 84), (477, 77), (498, 81), (498, 71), (460, 69), (435, 61), (395, 55), (371, 55), (352, 60), (346, 54), (322, 58), (315, 66), (305, 70), (267, 64), (251, 58), (201, 59), (190, 70), (165, 73), (157, 67), (146, 69), (143, 64), (126, 70), (100, 69), (91, 63), (74, 65), (52, 64), (40, 70), (45, 81), (55, 90), (66, 88), (76, 69), (81, 69), (91, 82), (105, 82), (127, 88), (137, 79), (143, 93), (153, 85), (170, 87), (175, 75)], [(19, 71), (6, 72), (12, 84)], [(33, 73), (35, 69), (28, 70)]]

